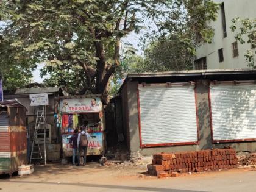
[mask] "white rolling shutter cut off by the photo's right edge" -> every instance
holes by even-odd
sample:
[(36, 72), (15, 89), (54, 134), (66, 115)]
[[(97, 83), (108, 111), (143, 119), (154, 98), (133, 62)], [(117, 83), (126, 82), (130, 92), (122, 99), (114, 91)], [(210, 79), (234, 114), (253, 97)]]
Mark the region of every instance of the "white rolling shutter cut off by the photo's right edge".
[(256, 138), (256, 85), (217, 84), (210, 87), (214, 141)]

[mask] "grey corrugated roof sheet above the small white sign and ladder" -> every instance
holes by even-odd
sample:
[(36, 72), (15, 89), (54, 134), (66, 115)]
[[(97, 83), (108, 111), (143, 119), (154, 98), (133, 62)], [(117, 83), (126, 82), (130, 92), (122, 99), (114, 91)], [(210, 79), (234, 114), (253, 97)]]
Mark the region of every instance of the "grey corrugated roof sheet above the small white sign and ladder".
[(32, 88), (18, 88), (15, 94), (35, 94), (35, 93), (57, 93), (60, 87), (32, 87)]

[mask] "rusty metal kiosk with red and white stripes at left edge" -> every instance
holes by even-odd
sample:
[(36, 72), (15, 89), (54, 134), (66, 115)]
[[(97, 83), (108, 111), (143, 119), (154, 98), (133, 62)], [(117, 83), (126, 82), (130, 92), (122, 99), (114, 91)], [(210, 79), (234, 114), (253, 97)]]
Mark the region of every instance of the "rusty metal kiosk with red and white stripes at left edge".
[(26, 108), (9, 100), (0, 109), (0, 174), (12, 174), (27, 163)]

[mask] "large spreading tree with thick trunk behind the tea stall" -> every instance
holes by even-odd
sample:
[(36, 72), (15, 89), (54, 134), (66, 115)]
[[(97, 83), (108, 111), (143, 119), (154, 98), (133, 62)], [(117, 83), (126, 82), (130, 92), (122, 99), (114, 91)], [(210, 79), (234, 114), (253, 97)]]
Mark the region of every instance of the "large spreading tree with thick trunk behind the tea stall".
[(0, 6), (5, 23), (0, 37), (12, 47), (17, 65), (20, 60), (46, 62), (43, 74), (54, 76), (49, 83), (62, 82), (58, 76), (77, 78), (73, 87), (80, 93), (107, 91), (120, 65), (121, 38), (138, 32), (144, 18), (152, 18), (162, 34), (189, 23), (201, 41), (212, 35), (206, 23), (218, 10), (203, 0), (4, 0)]

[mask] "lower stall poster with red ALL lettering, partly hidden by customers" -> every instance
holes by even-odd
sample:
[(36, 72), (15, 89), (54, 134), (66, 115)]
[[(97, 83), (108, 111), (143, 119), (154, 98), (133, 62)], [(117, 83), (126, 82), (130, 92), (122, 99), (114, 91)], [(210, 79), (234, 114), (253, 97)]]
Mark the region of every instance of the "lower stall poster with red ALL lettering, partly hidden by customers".
[[(89, 133), (87, 155), (102, 155), (103, 152), (103, 133)], [(64, 157), (72, 156), (72, 148), (69, 140), (72, 134), (62, 135), (62, 151)]]

